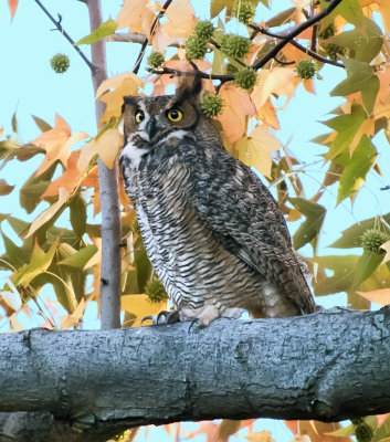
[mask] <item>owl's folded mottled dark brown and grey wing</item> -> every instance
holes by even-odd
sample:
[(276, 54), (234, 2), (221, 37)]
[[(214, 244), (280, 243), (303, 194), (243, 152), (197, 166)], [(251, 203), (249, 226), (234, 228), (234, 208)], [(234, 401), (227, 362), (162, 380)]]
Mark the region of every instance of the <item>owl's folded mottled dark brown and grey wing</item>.
[(224, 149), (198, 154), (190, 192), (199, 217), (231, 253), (275, 282), (303, 314), (315, 304), (285, 219), (266, 187)]

